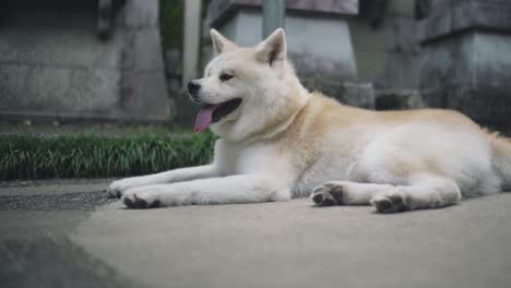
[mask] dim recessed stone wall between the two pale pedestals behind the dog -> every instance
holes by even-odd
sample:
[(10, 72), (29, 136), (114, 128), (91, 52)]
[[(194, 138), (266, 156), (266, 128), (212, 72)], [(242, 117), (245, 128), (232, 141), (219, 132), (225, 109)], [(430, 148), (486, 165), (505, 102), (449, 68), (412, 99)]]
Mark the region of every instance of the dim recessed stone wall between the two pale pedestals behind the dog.
[(418, 87), (414, 0), (360, 0), (358, 16), (347, 21), (360, 81), (377, 91)]

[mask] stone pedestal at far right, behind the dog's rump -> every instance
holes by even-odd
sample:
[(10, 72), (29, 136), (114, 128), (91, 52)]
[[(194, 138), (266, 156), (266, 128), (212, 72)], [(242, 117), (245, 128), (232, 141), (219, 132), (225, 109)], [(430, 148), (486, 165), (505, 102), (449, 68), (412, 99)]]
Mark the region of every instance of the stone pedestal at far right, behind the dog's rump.
[(433, 1), (418, 26), (427, 103), (511, 128), (511, 1)]

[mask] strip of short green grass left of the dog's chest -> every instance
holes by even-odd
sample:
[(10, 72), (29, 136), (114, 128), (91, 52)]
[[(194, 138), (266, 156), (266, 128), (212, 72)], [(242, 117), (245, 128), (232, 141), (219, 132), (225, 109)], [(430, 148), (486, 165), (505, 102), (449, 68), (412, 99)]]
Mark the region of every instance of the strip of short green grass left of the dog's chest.
[(135, 176), (211, 160), (211, 133), (0, 136), (0, 180)]

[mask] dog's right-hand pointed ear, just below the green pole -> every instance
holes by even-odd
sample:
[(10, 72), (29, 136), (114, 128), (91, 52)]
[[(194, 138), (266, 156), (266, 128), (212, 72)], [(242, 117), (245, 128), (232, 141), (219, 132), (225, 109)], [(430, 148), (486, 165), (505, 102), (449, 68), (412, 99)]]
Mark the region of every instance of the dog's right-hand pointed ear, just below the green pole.
[(270, 65), (284, 61), (287, 55), (286, 33), (283, 28), (277, 28), (260, 43), (255, 50), (258, 59)]

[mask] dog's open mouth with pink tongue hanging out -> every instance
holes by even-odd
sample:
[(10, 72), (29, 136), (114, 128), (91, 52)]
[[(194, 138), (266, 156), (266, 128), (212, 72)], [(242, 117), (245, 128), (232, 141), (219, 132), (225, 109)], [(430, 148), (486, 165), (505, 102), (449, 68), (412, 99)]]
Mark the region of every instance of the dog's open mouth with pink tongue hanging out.
[(218, 122), (223, 117), (236, 110), (240, 104), (240, 98), (234, 98), (221, 104), (204, 105), (195, 118), (195, 132), (206, 130), (211, 123)]

